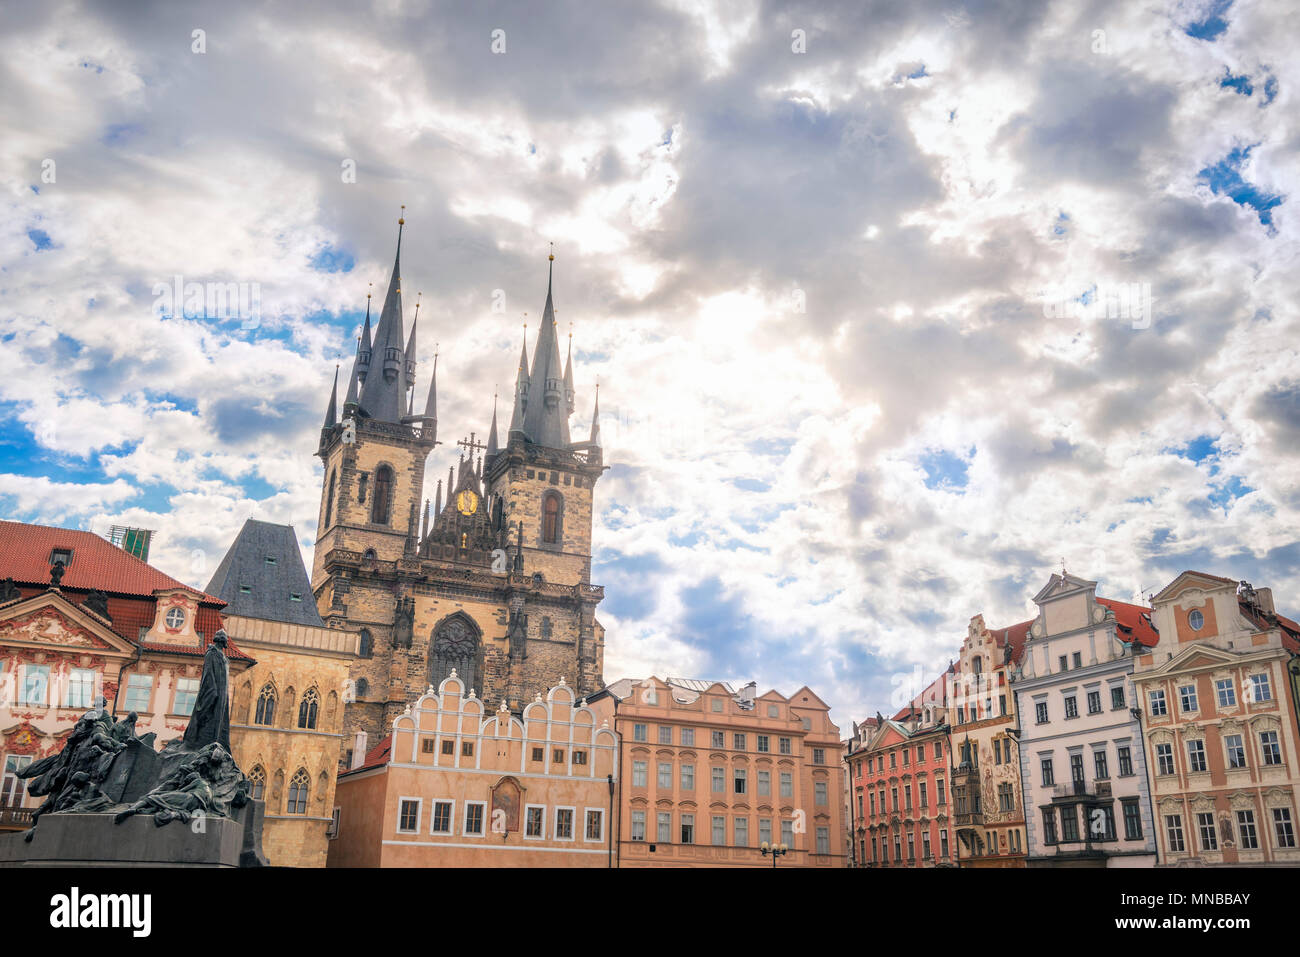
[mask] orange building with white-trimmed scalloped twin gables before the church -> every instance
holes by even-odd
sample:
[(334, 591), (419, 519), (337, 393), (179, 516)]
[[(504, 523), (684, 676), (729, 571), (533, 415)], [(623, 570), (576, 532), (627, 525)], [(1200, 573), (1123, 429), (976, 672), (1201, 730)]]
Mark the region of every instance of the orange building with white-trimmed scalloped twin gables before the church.
[(612, 867), (618, 736), (564, 679), (520, 715), (452, 671), (339, 775), (330, 867)]

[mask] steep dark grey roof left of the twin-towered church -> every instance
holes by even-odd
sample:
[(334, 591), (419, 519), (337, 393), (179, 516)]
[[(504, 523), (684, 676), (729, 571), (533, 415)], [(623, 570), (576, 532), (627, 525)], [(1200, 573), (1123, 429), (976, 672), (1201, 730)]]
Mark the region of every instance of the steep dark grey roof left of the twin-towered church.
[(244, 521), (208, 590), (226, 602), (228, 615), (325, 627), (292, 525)]

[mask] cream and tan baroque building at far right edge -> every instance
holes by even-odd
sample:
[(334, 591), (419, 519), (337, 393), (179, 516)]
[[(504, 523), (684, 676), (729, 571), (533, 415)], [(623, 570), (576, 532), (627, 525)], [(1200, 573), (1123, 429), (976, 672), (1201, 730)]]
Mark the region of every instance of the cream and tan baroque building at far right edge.
[(1270, 589), (1196, 571), (1153, 609), (1160, 642), (1138, 657), (1134, 684), (1161, 863), (1294, 866), (1300, 624)]

